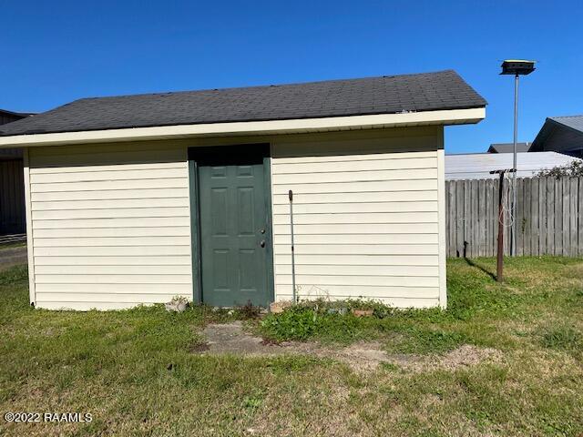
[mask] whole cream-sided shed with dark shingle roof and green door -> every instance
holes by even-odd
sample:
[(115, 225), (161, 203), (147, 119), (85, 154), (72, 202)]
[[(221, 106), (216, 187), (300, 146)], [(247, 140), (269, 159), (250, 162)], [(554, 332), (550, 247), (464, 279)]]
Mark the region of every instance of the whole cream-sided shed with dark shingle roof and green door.
[(486, 101), (454, 71), (85, 98), (0, 127), (25, 147), (30, 301), (182, 295), (446, 305), (444, 126)]

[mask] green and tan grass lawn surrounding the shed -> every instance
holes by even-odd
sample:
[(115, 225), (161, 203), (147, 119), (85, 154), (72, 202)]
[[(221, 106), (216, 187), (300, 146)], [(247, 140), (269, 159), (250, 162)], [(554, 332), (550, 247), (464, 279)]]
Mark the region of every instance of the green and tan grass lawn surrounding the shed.
[(26, 269), (9, 269), (0, 273), (0, 412), (93, 421), (0, 418), (0, 435), (581, 435), (583, 261), (507, 259), (504, 285), (494, 269), (494, 259), (450, 260), (445, 311), (314, 321), (302, 309), (250, 323), (275, 340), (375, 340), (411, 360), (466, 344), (497, 351), (470, 366), (366, 373), (310, 356), (201, 356), (201, 327), (232, 317), (204, 307), (33, 310)]

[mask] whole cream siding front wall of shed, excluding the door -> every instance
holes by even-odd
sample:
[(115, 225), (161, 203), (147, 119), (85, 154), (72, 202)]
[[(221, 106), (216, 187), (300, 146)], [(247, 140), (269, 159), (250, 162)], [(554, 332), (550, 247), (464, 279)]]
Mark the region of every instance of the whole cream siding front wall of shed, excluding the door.
[(302, 298), (445, 305), (443, 127), (31, 148), (31, 301), (108, 310), (191, 298), (187, 147), (259, 142), (271, 143), (276, 300), (292, 296), (292, 189)]

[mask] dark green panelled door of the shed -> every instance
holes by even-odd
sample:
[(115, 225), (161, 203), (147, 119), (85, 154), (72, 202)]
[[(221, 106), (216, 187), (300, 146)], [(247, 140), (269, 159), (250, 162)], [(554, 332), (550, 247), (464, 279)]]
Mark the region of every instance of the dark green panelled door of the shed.
[(201, 298), (212, 306), (271, 300), (270, 199), (259, 151), (240, 156), (215, 147), (197, 160)]

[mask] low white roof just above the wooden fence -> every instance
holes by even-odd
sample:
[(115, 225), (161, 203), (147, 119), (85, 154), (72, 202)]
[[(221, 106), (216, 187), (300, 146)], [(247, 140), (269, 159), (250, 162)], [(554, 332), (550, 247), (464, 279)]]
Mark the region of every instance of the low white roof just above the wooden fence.
[[(566, 166), (578, 158), (557, 152), (517, 153), (517, 178), (532, 178), (544, 169)], [(513, 167), (509, 153), (445, 155), (445, 179), (498, 178), (490, 171)]]

